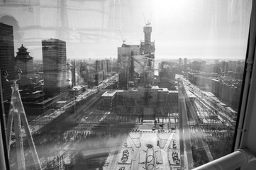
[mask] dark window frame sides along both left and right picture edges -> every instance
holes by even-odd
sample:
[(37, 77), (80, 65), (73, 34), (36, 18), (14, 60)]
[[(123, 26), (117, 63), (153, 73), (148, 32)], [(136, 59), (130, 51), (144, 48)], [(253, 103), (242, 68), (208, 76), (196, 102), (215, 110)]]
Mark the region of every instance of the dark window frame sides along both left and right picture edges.
[[(256, 1), (252, 0), (252, 11), (250, 16), (250, 29), (247, 40), (247, 52), (245, 56), (245, 67), (243, 73), (243, 85), (240, 91), (240, 105), (238, 108), (238, 118), (235, 126), (233, 152), (238, 148), (247, 147), (247, 137), (250, 135), (246, 130), (249, 128), (250, 118), (255, 112), (254, 101), (256, 88), (256, 64), (253, 64), (256, 55)], [(2, 76), (0, 77), (0, 84)], [(9, 159), (7, 154), (7, 142), (5, 135), (5, 121), (4, 121), (4, 101), (2, 95), (2, 88), (0, 86), (1, 95), (1, 118), (0, 118), (0, 169), (10, 169)]]

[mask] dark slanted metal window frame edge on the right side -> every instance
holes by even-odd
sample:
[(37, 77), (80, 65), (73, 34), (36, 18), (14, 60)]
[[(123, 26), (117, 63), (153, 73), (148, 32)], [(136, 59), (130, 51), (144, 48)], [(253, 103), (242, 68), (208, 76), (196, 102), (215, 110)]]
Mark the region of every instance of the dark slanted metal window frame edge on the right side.
[(247, 44), (247, 56), (245, 64), (245, 80), (243, 98), (240, 105), (240, 115), (237, 125), (234, 150), (245, 148), (245, 136), (247, 134), (248, 122), (252, 115), (252, 106), (256, 89), (252, 86), (256, 81), (256, 64), (253, 64), (256, 55), (256, 1), (252, 1), (250, 16), (250, 30)]

